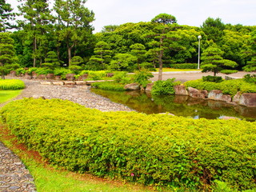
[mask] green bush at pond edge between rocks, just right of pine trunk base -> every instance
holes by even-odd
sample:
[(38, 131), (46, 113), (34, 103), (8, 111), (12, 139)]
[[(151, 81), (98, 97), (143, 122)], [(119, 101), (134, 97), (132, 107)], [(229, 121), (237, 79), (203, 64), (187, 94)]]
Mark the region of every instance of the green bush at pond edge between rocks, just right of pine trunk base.
[(181, 82), (174, 82), (175, 78), (169, 78), (166, 81), (154, 82), (151, 94), (161, 95), (161, 94), (175, 94), (174, 86), (179, 85)]

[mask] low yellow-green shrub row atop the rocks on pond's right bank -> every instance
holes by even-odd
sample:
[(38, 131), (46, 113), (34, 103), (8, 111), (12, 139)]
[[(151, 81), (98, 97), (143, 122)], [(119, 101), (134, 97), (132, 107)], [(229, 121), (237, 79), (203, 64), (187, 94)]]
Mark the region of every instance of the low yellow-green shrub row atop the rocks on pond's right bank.
[(246, 82), (243, 79), (226, 80), (223, 82), (204, 82), (202, 79), (185, 82), (186, 87), (193, 87), (198, 90), (222, 90), (223, 94), (234, 96), (241, 93), (256, 93), (256, 85)]

